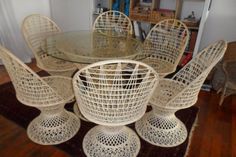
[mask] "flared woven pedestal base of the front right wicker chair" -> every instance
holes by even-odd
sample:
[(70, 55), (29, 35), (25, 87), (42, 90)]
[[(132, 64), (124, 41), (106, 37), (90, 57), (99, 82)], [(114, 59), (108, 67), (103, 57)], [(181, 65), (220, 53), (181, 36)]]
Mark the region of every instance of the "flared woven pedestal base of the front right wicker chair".
[(174, 147), (187, 138), (185, 125), (173, 114), (157, 115), (146, 113), (135, 123), (135, 129), (145, 141), (160, 147)]

